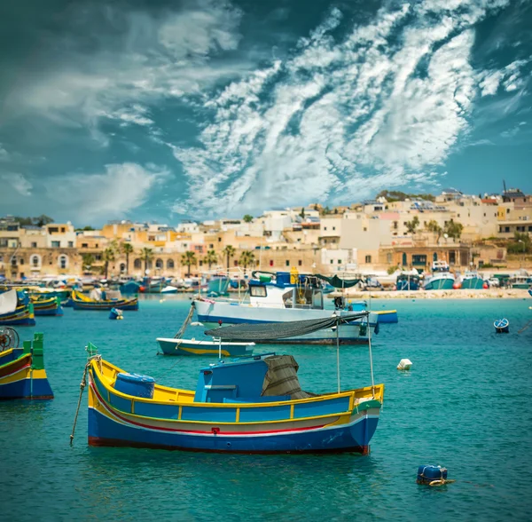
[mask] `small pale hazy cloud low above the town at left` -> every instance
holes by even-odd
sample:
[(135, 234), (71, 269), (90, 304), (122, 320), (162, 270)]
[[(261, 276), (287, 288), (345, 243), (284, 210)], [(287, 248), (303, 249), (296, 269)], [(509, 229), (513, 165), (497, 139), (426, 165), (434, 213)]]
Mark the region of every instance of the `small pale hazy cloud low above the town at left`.
[(122, 218), (142, 205), (168, 175), (167, 169), (154, 165), (109, 164), (103, 172), (47, 178), (46, 199), (56, 211), (79, 221)]

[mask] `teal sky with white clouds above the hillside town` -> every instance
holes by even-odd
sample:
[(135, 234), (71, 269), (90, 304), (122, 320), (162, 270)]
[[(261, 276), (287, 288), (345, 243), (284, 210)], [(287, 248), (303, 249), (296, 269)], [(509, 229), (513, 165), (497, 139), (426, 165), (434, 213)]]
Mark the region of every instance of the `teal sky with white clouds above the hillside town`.
[(0, 215), (532, 193), (532, 0), (18, 0), (0, 70)]

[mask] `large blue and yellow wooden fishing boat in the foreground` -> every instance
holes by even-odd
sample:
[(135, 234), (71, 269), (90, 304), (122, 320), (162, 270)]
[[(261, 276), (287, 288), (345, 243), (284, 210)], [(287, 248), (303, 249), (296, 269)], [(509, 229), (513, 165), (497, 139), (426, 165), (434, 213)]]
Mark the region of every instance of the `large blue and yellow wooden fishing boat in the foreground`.
[(372, 385), (341, 391), (339, 369), (336, 392), (304, 392), (293, 356), (263, 353), (201, 368), (196, 390), (189, 391), (126, 373), (103, 360), (93, 344), (87, 349), (91, 446), (246, 454), (370, 451), (384, 396), (373, 374)]

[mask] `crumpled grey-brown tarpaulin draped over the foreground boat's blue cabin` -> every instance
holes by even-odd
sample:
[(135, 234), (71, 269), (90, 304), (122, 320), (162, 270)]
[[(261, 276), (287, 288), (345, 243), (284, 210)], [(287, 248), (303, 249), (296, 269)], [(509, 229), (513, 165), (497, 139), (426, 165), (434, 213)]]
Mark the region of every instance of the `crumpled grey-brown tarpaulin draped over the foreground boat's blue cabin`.
[(290, 399), (307, 399), (314, 393), (303, 392), (297, 370), (299, 368), (292, 355), (273, 355), (265, 357), (268, 371), (262, 384), (262, 396), (290, 395)]

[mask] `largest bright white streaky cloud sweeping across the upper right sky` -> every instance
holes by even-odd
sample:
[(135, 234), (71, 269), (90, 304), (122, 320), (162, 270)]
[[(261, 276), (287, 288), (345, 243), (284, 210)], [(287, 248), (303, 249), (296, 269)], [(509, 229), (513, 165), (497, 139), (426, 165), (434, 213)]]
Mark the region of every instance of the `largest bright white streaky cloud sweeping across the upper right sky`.
[[(201, 146), (170, 144), (189, 178), (189, 208), (231, 213), (237, 204), (252, 211), (349, 200), (368, 186), (434, 185), (478, 92), (472, 24), (504, 4), (383, 8), (340, 43), (330, 33), (341, 13), (332, 10), (289, 59), (207, 99), (214, 123)], [(485, 75), (481, 91), (500, 81)]]

